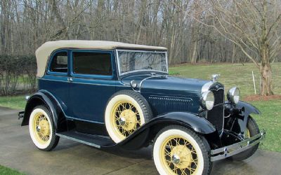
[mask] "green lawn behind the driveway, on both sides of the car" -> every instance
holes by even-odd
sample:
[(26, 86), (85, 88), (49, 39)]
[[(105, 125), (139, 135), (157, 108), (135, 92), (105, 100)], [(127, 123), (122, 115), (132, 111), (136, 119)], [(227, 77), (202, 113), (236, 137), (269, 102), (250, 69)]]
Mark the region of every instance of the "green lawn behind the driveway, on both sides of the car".
[[(171, 74), (188, 78), (210, 79), (211, 74), (219, 73), (221, 74), (219, 81), (226, 86), (226, 90), (233, 86), (240, 87), (242, 99), (254, 94), (251, 71), (254, 71), (256, 88), (259, 92), (259, 70), (254, 64), (244, 64), (244, 66), (242, 64), (181, 64), (170, 67)], [(281, 94), (281, 63), (273, 65), (273, 91), (275, 94)], [(254, 119), (261, 129), (265, 128), (267, 131), (266, 139), (260, 148), (281, 152), (281, 99), (250, 103), (261, 111), (262, 115), (254, 116)], [(24, 109), (25, 96), (0, 97), (0, 106)]]

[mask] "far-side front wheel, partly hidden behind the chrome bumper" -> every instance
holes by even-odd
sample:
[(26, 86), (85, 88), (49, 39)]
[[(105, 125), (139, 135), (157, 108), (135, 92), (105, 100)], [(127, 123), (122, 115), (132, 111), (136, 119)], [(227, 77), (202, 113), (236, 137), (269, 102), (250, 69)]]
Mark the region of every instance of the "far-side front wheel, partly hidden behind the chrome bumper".
[[(244, 132), (244, 138), (248, 139), (250, 137), (253, 137), (254, 135), (259, 134), (259, 126), (256, 124), (256, 121), (254, 120), (254, 118), (251, 118), (251, 116), (249, 116), (248, 118), (248, 122), (247, 122), (247, 129)], [(251, 157), (251, 155), (253, 155), (254, 153), (256, 153), (256, 150), (258, 149), (259, 144), (256, 144), (255, 146), (249, 148), (246, 151), (243, 151), (242, 153), (239, 153), (237, 155), (233, 155), (232, 157), (228, 158), (230, 160), (245, 160), (249, 157)]]

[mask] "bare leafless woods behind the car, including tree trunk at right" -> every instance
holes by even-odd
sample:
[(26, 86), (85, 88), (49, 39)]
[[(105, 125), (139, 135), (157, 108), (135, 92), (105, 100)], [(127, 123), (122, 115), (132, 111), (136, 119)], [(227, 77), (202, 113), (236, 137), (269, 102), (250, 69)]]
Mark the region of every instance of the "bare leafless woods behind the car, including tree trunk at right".
[(169, 64), (254, 62), (267, 95), (280, 13), (280, 0), (1, 0), (0, 55), (34, 55), (60, 39), (161, 45)]

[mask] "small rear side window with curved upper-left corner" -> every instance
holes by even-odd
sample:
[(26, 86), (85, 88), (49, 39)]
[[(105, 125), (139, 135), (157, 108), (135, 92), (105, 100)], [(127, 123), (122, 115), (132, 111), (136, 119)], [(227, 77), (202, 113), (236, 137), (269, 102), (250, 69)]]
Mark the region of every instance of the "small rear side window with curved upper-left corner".
[(53, 56), (50, 71), (67, 73), (67, 52), (57, 52)]

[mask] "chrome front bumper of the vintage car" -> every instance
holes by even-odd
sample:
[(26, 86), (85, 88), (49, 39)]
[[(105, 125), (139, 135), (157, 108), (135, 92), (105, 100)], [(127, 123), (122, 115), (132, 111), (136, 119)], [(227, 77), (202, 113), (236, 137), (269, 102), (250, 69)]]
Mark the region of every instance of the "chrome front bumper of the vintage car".
[(228, 158), (259, 144), (259, 142), (265, 137), (265, 134), (266, 130), (262, 130), (259, 134), (256, 134), (254, 137), (244, 141), (240, 141), (236, 144), (225, 146), (223, 148), (218, 148), (216, 150), (211, 150), (211, 162)]

